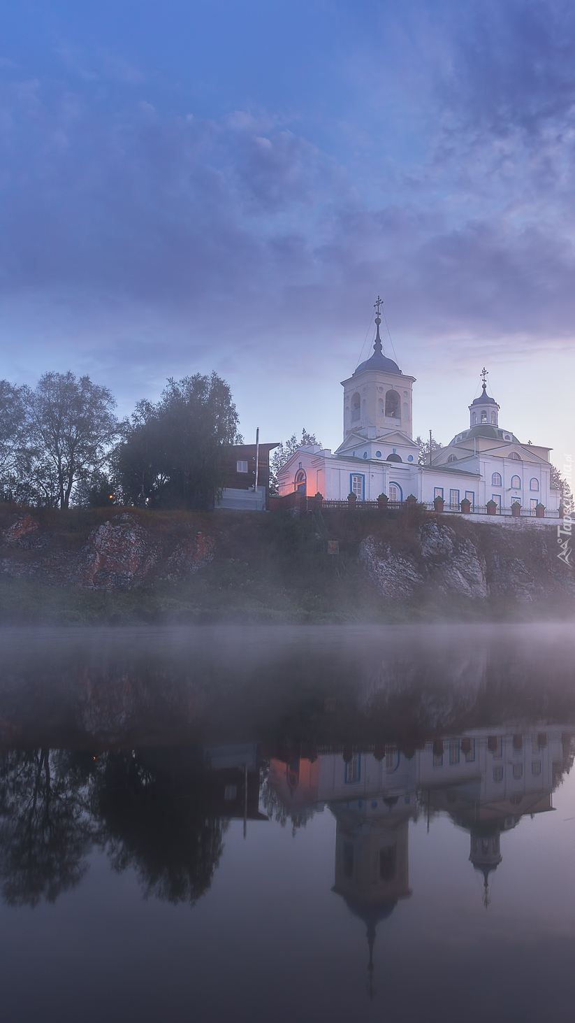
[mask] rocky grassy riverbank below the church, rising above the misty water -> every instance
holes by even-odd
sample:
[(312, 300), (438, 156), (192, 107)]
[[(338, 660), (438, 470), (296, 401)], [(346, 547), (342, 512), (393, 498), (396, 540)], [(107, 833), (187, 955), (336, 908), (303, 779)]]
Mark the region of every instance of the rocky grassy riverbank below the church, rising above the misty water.
[[(0, 622), (526, 621), (575, 613), (553, 528), (400, 513), (0, 507)], [(331, 542), (329, 542), (331, 541)]]

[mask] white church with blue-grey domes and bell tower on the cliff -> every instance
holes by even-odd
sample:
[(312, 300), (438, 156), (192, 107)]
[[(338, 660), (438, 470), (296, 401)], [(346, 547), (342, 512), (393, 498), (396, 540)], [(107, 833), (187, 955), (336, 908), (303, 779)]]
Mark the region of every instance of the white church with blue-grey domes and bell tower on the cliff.
[[(444, 509), (461, 511), (468, 499), (471, 514), (521, 514), (559, 517), (560, 491), (552, 486), (549, 448), (522, 444), (511, 430), (499, 427), (499, 406), (482, 392), (469, 406), (469, 427), (443, 448), (432, 452), (430, 464), (420, 465), (413, 439), (415, 376), (401, 372), (383, 353), (380, 300), (376, 303), (376, 339), (371, 358), (342, 381), (343, 442), (337, 451), (320, 445), (299, 447), (278, 474), (280, 496), (298, 490), (307, 497), (360, 501), (385, 495), (389, 501), (416, 497), (442, 498)], [(517, 514), (516, 508), (516, 514)]]

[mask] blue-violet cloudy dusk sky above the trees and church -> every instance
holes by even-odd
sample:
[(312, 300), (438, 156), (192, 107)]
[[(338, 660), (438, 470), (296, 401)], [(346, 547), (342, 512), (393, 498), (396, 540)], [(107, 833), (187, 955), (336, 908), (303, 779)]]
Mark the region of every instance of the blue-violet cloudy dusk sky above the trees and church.
[(0, 376), (215, 370), (336, 448), (381, 294), (416, 433), (485, 365), (575, 454), (569, 0), (4, 0), (0, 152)]

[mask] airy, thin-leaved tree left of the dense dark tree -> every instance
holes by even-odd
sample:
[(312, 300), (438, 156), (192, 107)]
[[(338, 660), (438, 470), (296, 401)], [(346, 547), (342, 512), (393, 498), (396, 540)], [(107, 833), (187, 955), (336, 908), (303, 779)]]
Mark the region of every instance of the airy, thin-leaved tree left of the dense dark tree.
[(101, 468), (117, 435), (115, 401), (89, 376), (44, 373), (22, 389), (28, 417), (28, 475), (38, 503), (69, 506), (77, 484)]

